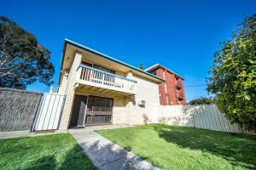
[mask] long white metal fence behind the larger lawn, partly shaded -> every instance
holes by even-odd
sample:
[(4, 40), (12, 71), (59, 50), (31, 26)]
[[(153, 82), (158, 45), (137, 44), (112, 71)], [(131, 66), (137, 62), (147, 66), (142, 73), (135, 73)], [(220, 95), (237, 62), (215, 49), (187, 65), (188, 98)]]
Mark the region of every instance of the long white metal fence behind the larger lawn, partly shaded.
[[(251, 133), (231, 124), (216, 105), (160, 105), (150, 114), (151, 122), (198, 127), (231, 133)], [(252, 133), (251, 133), (252, 134)]]

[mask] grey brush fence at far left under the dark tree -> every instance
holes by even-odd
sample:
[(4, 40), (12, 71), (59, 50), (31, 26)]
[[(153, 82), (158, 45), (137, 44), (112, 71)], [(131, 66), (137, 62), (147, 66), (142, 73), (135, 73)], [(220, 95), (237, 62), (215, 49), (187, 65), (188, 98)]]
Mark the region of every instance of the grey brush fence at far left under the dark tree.
[(0, 88), (0, 131), (31, 130), (41, 93)]

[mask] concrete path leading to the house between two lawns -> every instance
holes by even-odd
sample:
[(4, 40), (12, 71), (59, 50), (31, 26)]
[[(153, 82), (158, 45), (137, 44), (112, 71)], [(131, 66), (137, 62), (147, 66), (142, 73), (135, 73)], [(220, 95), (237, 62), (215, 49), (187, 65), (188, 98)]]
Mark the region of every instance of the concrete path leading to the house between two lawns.
[(118, 144), (113, 144), (108, 139), (103, 138), (93, 130), (127, 127), (120, 125), (108, 125), (99, 127), (85, 127), (84, 129), (70, 129), (69, 133), (77, 140), (79, 145), (83, 148), (90, 160), (100, 170), (120, 170), (120, 169), (154, 169), (158, 170), (158, 167), (154, 167), (148, 161), (143, 161), (142, 158), (128, 152)]

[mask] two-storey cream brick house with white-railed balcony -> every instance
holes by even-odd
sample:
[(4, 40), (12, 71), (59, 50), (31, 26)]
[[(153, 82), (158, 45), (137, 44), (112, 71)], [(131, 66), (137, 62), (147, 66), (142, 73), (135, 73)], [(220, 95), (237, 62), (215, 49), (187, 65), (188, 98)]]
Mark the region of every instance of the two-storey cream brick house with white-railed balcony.
[(148, 71), (65, 39), (59, 94), (66, 94), (59, 128), (147, 122), (160, 105), (159, 85)]

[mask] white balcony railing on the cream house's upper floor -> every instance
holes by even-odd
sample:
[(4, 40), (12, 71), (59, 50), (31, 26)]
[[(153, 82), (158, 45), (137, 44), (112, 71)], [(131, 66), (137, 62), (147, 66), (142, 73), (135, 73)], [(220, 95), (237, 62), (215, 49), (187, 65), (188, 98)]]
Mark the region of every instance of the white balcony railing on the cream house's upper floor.
[(84, 84), (135, 94), (137, 81), (130, 78), (101, 71), (87, 65), (79, 65), (78, 72), (79, 82)]

